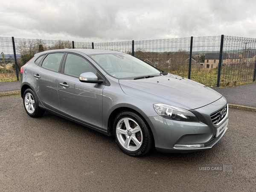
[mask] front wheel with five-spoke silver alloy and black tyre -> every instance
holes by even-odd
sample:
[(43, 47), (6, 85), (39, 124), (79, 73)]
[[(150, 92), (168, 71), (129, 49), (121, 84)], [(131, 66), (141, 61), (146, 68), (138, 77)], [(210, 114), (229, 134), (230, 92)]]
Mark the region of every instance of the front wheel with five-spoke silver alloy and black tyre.
[(142, 156), (152, 148), (153, 136), (145, 119), (133, 111), (122, 111), (113, 122), (119, 148), (126, 154)]

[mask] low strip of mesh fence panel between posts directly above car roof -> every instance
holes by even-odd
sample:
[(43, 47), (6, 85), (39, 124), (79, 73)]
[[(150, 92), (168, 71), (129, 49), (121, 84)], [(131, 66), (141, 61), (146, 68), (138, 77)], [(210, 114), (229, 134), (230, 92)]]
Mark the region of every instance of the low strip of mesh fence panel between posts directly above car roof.
[(95, 43), (94, 49), (113, 50), (132, 54), (132, 41), (110, 42), (110, 43)]

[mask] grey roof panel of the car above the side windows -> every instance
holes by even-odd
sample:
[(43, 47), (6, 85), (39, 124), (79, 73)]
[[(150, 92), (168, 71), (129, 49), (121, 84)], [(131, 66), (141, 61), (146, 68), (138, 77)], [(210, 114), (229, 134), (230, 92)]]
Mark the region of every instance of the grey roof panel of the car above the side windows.
[(54, 49), (44, 52), (36, 53), (35, 56), (38, 56), (39, 54), (45, 54), (49, 52), (82, 52), (86, 55), (92, 55), (92, 54), (105, 54), (105, 53), (121, 53), (117, 51), (110, 51), (110, 50), (101, 50), (101, 49)]

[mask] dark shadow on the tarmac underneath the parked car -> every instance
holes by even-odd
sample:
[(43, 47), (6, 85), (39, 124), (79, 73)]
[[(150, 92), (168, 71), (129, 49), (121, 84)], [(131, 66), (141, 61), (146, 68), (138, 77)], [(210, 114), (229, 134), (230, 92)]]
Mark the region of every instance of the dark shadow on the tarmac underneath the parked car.
[[(38, 119), (38, 118), (37, 118)], [(50, 122), (52, 128), (57, 129), (58, 131), (69, 131), (69, 134), (72, 134), (73, 137), (83, 137), (86, 140), (97, 140), (99, 146), (104, 148), (103, 151), (115, 151), (119, 155), (126, 156), (128, 158), (137, 158), (138, 160), (150, 160), (160, 162), (176, 162), (176, 163), (184, 163), (186, 161), (189, 162), (204, 162), (206, 163), (208, 160), (214, 158), (215, 156), (219, 156), (223, 153), (222, 148), (222, 140), (216, 143), (212, 148), (195, 151), (191, 153), (160, 153), (153, 147), (148, 154), (145, 154), (142, 157), (131, 157), (127, 154), (124, 154), (116, 145), (115, 138), (113, 136), (109, 137), (105, 134), (94, 131), (90, 128), (87, 128), (83, 125), (77, 124), (70, 120), (64, 119), (62, 117), (53, 115), (52, 113), (46, 112), (42, 117), (40, 117), (42, 122)], [(108, 154), (108, 153), (107, 153)]]

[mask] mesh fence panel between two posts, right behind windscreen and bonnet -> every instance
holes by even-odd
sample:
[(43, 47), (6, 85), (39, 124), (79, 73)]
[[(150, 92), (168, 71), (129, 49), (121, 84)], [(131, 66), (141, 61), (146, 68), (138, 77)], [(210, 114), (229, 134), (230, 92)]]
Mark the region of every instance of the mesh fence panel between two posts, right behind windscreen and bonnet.
[(134, 56), (163, 71), (188, 77), (190, 38), (134, 42)]

